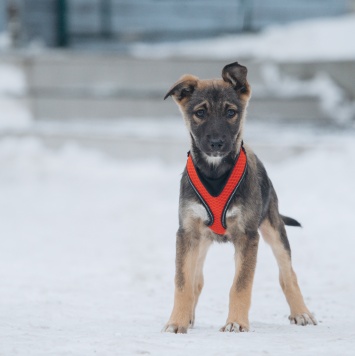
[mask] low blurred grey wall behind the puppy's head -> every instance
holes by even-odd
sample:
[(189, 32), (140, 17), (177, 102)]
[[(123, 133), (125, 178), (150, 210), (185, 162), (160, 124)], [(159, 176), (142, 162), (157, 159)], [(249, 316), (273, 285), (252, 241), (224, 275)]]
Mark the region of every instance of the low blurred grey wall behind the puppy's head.
[[(118, 55), (45, 52), (42, 55), (0, 58), (22, 68), (27, 80), (24, 97), (38, 120), (120, 119), (178, 116), (167, 90), (183, 73), (218, 77), (226, 60), (169, 58), (162, 60)], [(269, 86), (264, 63), (244, 61), (249, 69), (253, 97), (249, 119), (295, 122), (331, 122), (334, 112), (323, 110), (317, 93), (284, 96)], [(274, 63), (280, 73), (305, 81), (319, 71), (355, 100), (355, 62)], [(332, 85), (332, 84), (331, 84)], [(339, 103), (342, 104), (342, 103)]]

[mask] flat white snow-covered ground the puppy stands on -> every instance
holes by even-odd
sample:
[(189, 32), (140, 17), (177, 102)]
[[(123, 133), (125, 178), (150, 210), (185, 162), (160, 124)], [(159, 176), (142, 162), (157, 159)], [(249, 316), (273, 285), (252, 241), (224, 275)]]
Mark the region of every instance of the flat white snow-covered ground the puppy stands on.
[(288, 232), (318, 326), (289, 325), (276, 263), (261, 242), (250, 333), (218, 332), (234, 271), (230, 245), (209, 252), (195, 328), (161, 333), (173, 303), (184, 159), (127, 162), (74, 144), (51, 150), (2, 138), (0, 355), (354, 355), (355, 137), (248, 127), (248, 142), (274, 132), (274, 150), (306, 147), (281, 161), (257, 153), (281, 211), (304, 226)]

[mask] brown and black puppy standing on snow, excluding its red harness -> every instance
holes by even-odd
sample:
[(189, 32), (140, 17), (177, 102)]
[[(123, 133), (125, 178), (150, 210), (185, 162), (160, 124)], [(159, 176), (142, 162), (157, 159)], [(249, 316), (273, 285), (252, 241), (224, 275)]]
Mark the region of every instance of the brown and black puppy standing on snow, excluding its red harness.
[[(199, 180), (213, 197), (222, 194), (231, 172), (244, 154), (246, 165), (231, 194), (217, 232), (215, 216), (203, 201), (185, 169), (180, 187), (179, 230), (176, 239), (174, 308), (164, 331), (186, 333), (195, 321), (203, 287), (203, 263), (213, 241), (235, 247), (235, 277), (230, 290), (229, 314), (221, 331), (248, 331), (248, 313), (259, 243), (259, 231), (271, 245), (280, 270), (280, 284), (290, 306), (291, 323), (317, 324), (307, 309), (296, 274), (285, 224), (299, 226), (280, 215), (275, 190), (263, 164), (243, 146), (243, 125), (251, 96), (247, 68), (232, 63), (222, 79), (199, 80), (183, 76), (166, 94), (178, 104), (191, 137), (190, 158)], [(224, 229), (224, 230), (223, 230)], [(221, 232), (222, 231), (222, 232)]]

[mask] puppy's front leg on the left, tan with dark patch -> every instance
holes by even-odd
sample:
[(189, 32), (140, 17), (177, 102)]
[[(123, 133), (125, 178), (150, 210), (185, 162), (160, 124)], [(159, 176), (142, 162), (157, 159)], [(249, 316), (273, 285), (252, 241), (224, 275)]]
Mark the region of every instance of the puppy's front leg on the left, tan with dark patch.
[(195, 272), (199, 255), (198, 241), (185, 231), (176, 236), (176, 272), (174, 308), (163, 331), (186, 333), (192, 323), (195, 305)]

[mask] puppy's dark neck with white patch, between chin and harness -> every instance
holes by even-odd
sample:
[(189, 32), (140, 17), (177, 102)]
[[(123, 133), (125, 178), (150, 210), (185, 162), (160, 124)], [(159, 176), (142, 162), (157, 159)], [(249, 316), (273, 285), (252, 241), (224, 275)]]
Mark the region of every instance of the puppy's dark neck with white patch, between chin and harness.
[[(236, 144), (237, 145), (237, 144)], [(218, 179), (230, 172), (234, 165), (236, 157), (239, 154), (241, 144), (234, 147), (234, 149), (223, 157), (210, 157), (202, 152), (192, 140), (191, 142), (191, 156), (196, 167), (207, 178)]]

